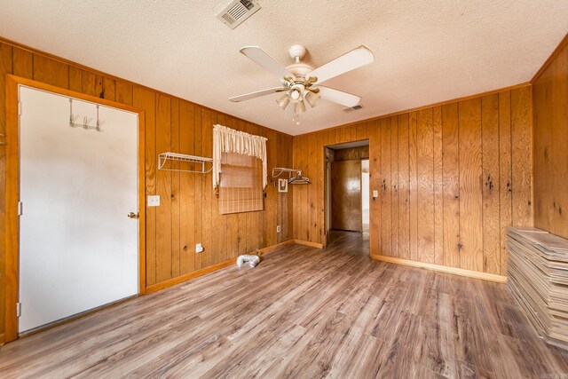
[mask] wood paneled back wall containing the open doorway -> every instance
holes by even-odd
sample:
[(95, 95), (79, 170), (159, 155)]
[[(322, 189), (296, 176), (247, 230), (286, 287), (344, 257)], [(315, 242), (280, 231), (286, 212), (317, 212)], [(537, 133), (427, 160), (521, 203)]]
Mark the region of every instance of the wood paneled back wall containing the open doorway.
[(367, 138), (371, 254), (506, 274), (506, 227), (533, 225), (530, 85), (296, 136), (296, 239), (324, 243), (324, 146)]

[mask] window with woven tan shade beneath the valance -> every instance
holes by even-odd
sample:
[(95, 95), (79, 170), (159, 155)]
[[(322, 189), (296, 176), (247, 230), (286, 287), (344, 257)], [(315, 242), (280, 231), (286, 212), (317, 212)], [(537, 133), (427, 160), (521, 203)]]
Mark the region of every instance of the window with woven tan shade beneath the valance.
[(263, 164), (256, 157), (221, 154), (219, 213), (263, 210)]

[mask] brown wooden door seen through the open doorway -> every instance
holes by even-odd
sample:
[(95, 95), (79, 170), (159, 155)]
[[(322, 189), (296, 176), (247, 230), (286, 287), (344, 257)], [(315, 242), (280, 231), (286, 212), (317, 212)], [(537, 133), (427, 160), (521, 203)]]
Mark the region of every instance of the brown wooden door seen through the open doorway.
[(331, 226), (361, 232), (361, 161), (331, 162)]

